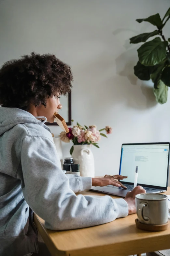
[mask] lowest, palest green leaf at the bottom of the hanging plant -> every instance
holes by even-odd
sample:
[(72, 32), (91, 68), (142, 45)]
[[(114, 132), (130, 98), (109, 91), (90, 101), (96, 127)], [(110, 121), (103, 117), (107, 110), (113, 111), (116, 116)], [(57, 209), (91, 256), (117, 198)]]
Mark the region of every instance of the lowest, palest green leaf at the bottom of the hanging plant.
[(164, 104), (167, 101), (168, 96), (168, 87), (163, 83), (163, 81), (159, 80), (158, 89), (153, 89), (153, 92), (156, 97), (156, 101), (160, 104)]

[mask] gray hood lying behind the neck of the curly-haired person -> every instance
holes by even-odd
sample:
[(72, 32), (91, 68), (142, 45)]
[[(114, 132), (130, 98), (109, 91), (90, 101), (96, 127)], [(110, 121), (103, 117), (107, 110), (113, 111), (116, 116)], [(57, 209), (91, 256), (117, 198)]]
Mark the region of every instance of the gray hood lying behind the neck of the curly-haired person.
[[(45, 119), (43, 122), (36, 118)], [(0, 135), (7, 130), (13, 128), (15, 125), (32, 123), (43, 126), (45, 129), (50, 129), (44, 124), (47, 121), (45, 116), (34, 116), (31, 113), (18, 108), (3, 108), (0, 107)]]

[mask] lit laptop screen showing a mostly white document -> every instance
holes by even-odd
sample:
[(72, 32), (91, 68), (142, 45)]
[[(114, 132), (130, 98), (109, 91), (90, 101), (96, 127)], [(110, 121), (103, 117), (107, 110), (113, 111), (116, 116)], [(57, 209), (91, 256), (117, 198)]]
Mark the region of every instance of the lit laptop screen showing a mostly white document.
[(138, 166), (137, 184), (166, 187), (168, 162), (169, 144), (122, 145), (119, 173), (134, 183)]

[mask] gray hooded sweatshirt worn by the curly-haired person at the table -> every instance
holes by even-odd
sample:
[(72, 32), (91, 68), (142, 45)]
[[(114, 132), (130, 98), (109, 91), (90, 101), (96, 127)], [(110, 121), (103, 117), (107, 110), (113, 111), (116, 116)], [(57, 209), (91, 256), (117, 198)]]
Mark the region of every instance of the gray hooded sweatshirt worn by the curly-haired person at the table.
[(1, 256), (38, 251), (33, 211), (50, 230), (84, 228), (127, 216), (124, 199), (74, 193), (91, 186), (90, 177), (63, 173), (44, 123), (27, 111), (0, 108)]

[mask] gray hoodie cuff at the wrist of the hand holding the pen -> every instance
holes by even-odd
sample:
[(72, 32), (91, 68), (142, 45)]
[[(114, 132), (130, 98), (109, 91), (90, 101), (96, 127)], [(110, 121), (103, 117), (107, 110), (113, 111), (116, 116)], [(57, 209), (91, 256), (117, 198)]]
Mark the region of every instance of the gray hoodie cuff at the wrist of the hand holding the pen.
[(112, 199), (115, 206), (116, 218), (126, 217), (128, 215), (128, 204), (123, 198)]

